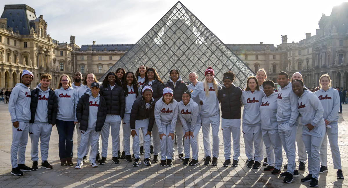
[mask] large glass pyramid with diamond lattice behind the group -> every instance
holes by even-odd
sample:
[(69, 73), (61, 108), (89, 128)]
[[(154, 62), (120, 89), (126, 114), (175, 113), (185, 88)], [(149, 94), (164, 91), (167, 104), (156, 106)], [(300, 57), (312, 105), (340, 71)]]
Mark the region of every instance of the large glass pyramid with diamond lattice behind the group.
[[(219, 82), (224, 72), (234, 72), (236, 86), (244, 87), (246, 79), (255, 75), (180, 1), (108, 72), (121, 67), (135, 73), (141, 65), (155, 68), (163, 82), (167, 82), (172, 69), (179, 70), (185, 81), (191, 71), (197, 73), (198, 80), (203, 80), (209, 66), (213, 67)], [(99, 79), (100, 82), (108, 72)]]

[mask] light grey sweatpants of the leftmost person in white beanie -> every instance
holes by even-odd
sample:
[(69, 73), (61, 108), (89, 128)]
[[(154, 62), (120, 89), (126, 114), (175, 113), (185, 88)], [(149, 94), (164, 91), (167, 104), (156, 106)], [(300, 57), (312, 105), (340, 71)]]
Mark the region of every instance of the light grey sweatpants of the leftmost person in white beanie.
[[(28, 143), (29, 122), (18, 122), (19, 126), (12, 126), (11, 164), (17, 168), (18, 164), (25, 163), (25, 147)], [(17, 159), (18, 156), (18, 159)]]

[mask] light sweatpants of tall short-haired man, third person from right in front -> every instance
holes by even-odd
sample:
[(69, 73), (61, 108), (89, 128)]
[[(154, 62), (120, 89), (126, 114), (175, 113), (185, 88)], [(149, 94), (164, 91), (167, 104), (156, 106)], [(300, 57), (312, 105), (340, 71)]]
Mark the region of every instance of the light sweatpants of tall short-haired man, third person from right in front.
[(293, 127), (289, 126), (289, 123), (278, 124), (279, 137), (282, 140), (284, 151), (287, 158), (287, 169), (286, 171), (293, 174), (295, 170), (295, 140), (297, 125)]

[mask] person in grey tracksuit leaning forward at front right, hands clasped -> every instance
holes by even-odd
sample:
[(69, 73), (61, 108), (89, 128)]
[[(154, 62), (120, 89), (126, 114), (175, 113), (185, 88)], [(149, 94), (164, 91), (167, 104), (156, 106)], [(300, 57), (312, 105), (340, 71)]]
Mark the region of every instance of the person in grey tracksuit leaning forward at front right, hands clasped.
[(303, 82), (292, 82), (292, 91), (298, 96), (298, 110), (303, 124), (302, 139), (308, 155), (308, 175), (301, 181), (309, 182), (310, 187), (318, 186), (320, 156), (319, 151), (325, 135), (323, 106), (315, 93), (303, 91)]

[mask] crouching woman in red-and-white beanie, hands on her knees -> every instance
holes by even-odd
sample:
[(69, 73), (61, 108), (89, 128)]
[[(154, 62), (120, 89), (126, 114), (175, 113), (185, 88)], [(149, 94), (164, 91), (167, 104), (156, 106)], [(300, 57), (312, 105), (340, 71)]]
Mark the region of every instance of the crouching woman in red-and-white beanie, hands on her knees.
[(172, 166), (174, 151), (174, 132), (177, 121), (177, 101), (173, 99), (173, 89), (165, 87), (163, 97), (155, 104), (155, 121), (161, 147), (161, 166)]

